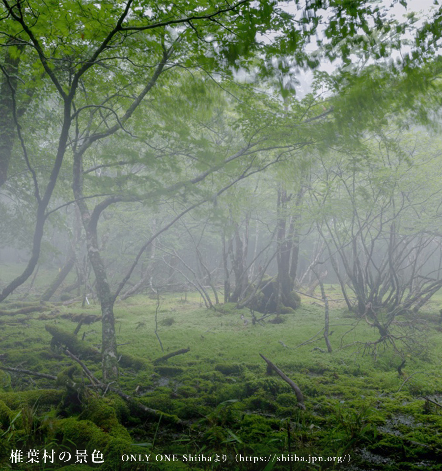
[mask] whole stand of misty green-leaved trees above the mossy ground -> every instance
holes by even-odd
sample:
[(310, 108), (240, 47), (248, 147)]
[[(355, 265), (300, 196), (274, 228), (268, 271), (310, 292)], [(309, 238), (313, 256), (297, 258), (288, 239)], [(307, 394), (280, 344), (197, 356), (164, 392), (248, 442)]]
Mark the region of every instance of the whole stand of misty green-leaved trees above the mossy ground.
[[(394, 140), (378, 154), (362, 152), (374, 130), (403, 130), (410, 116), (428, 124), (433, 115), (423, 110), (437, 110), (422, 97), (437, 86), (438, 11), (394, 65), (383, 61), (412, 25), (386, 22), (379, 5), (365, 1), (296, 1), (290, 12), (267, 0), (5, 0), (0, 14), (2, 230), (8, 246), (28, 255), (0, 301), (35, 275), (42, 252), (67, 250), (42, 299), (74, 267), (82, 297), (97, 293), (104, 382), (118, 376), (119, 296), (155, 290), (178, 273), (208, 306), (219, 302), (221, 284), (224, 301), (238, 306), (295, 308), (300, 270), (314, 265), (301, 266), (312, 235), (321, 237), (349, 308), (354, 295), (359, 312), (371, 303), (395, 315), (439, 289), (440, 267), (429, 268), (439, 236), (422, 209), (436, 193), (407, 188), (412, 157)], [(314, 37), (323, 39), (311, 54)], [(373, 57), (379, 66), (350, 65)], [(412, 67), (410, 57), (422, 62)], [(341, 62), (331, 76), (318, 72), (299, 99), (297, 71), (321, 58)], [(406, 110), (387, 85), (405, 97)], [(385, 117), (392, 104), (402, 122)], [(166, 235), (172, 226), (179, 235)]]

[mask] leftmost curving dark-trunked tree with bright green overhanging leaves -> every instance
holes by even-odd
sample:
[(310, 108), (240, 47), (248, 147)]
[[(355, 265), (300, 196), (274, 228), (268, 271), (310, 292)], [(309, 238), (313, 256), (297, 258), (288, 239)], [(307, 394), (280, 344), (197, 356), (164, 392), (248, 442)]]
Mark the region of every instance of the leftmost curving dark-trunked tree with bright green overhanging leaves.
[[(36, 266), (45, 213), (66, 153), (75, 150), (79, 154), (97, 140), (130, 132), (125, 123), (170, 68), (205, 70), (213, 79), (213, 74), (231, 78), (234, 69), (253, 69), (260, 80), (277, 70), (284, 91), (284, 77), (292, 75), (294, 67), (318, 65), (320, 55), (313, 57), (305, 51), (310, 36), (318, 30), (324, 33), (322, 54), (331, 59), (339, 56), (348, 62), (355, 44), (362, 44), (365, 55), (388, 55), (386, 48), (379, 49), (371, 33), (392, 29), (379, 5), (366, 1), (306, 6), (297, 1), (295, 5), (296, 11), (288, 13), (267, 0), (198, 2), (198, 8), (188, 2), (129, 0), (114, 5), (4, 0), (0, 183), (7, 179), (14, 144), (20, 143), (37, 209), (28, 266), (3, 289), (0, 300), (23, 283)], [(316, 15), (326, 7), (326, 18)], [(431, 28), (438, 18), (436, 15), (434, 23), (425, 24), (426, 32), (431, 32), (426, 36), (428, 50), (438, 38), (438, 29)], [(397, 34), (402, 29), (396, 28)], [(272, 35), (270, 43), (265, 41), (268, 33)], [(360, 33), (368, 35), (370, 41), (361, 42)], [(391, 44), (400, 47), (400, 41)], [(275, 57), (280, 57), (276, 70)], [(26, 126), (21, 118), (28, 107), (35, 114), (46, 106), (43, 97), (48, 96), (55, 102), (51, 116), (54, 136), (49, 162), (41, 172), (36, 171), (38, 152), (31, 142), (35, 123)]]

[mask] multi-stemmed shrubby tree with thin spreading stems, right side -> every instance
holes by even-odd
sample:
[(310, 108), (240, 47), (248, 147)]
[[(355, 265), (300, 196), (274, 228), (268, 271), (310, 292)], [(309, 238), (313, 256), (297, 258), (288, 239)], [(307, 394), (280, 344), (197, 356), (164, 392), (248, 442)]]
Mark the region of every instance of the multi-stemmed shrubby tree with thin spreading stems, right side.
[(442, 286), (434, 261), (440, 189), (429, 184), (440, 151), (429, 156), (427, 138), (416, 136), (407, 142), (402, 131), (390, 131), (364, 153), (323, 160), (311, 188), (317, 230), (347, 306), (371, 316), (383, 339), (397, 315), (417, 312)]

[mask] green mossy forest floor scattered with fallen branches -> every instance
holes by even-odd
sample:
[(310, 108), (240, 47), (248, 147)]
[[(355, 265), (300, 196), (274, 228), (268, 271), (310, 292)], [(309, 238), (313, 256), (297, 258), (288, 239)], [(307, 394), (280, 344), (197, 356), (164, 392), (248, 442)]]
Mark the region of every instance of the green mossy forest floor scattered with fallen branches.
[[(332, 297), (333, 291), (329, 292)], [(380, 346), (376, 357), (366, 349), (364, 354), (364, 344), (379, 336), (339, 303), (331, 304), (330, 312), (333, 352), (325, 353), (321, 336), (299, 346), (323, 327), (323, 307), (313, 301), (304, 298), (299, 309), (283, 315), (283, 323), (253, 325), (247, 309), (238, 311), (228, 305), (207, 310), (197, 295), (189, 293), (186, 302), (179, 293), (161, 296), (157, 333), (164, 351), (155, 335), (157, 301), (138, 296), (117, 303), (116, 332), (124, 363), (120, 388), (160, 414), (143, 414), (110, 392), (102, 398), (84, 388), (78, 397), (62, 386), (55, 391), (57, 385), (50, 379), (1, 373), (0, 469), (442, 469), (442, 409), (423, 397), (435, 402), (442, 398), (441, 300), (436, 298), (420, 314), (424, 323), (419, 326), (418, 342), (409, 347), (398, 344), (406, 359), (401, 376), (397, 367), (402, 358), (391, 345)], [(72, 366), (72, 360), (62, 349), (51, 348), (45, 325), (73, 332), (77, 322), (63, 314), (80, 312), (100, 314), (99, 306), (92, 304), (2, 315), (2, 364), (59, 375)], [(408, 319), (398, 321), (405, 326)], [(100, 348), (100, 322), (83, 325), (78, 337)], [(343, 345), (349, 346), (340, 348)], [(167, 353), (187, 347), (188, 353), (154, 364)], [(283, 380), (266, 374), (259, 353), (298, 384), (305, 411), (297, 407), (295, 394)], [(84, 361), (100, 377), (101, 365)], [(87, 383), (79, 368), (69, 374)], [(105, 463), (11, 464), (9, 460), (11, 449), (45, 448), (58, 453), (86, 449), (89, 454), (99, 449)], [(121, 460), (122, 454), (131, 453), (176, 454), (179, 461)], [(238, 453), (266, 459), (275, 453), (296, 453), (307, 460), (347, 453), (351, 462), (237, 463)], [(216, 454), (226, 461), (182, 459)]]

